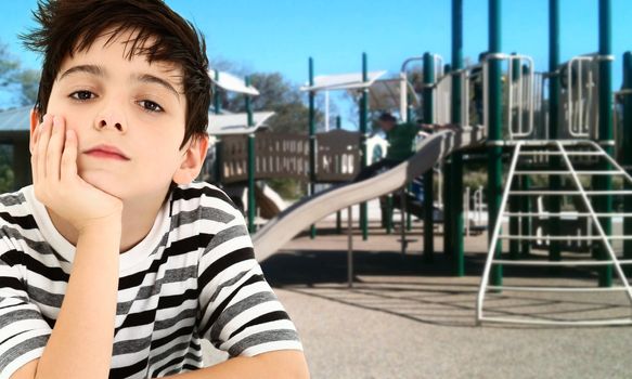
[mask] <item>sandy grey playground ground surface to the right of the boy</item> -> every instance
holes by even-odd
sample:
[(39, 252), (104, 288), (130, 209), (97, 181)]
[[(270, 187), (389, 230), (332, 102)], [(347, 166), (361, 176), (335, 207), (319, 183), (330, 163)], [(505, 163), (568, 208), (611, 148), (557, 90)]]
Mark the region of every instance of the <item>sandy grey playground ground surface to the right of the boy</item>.
[[(262, 264), (299, 330), (312, 378), (630, 376), (630, 327), (476, 326), (487, 233), (465, 238), (466, 273), (453, 277), (440, 233), (435, 260), (425, 263), (420, 222), (413, 223), (409, 252), (402, 256), (398, 231), (387, 235), (374, 220), (369, 240), (356, 230), (354, 283), (348, 288), (347, 236), (334, 233), (331, 218), (318, 226), (315, 239), (302, 234)], [(505, 280), (516, 285), (596, 283), (596, 275), (585, 271), (565, 279), (510, 273)], [(564, 293), (564, 301), (551, 293), (493, 296), (490, 311), (498, 306), (501, 315), (586, 318), (631, 310), (624, 296), (603, 292)], [(225, 360), (212, 348), (207, 353), (208, 363)]]

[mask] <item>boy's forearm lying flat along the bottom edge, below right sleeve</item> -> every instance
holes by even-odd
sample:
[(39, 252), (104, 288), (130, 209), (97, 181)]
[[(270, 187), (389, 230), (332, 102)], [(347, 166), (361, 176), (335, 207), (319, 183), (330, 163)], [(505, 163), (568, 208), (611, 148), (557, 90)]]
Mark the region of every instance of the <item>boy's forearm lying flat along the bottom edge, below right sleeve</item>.
[(266, 353), (254, 357), (237, 356), (211, 367), (197, 371), (180, 374), (172, 379), (204, 379), (204, 378), (258, 378), (283, 379), (309, 378), (309, 370), (305, 356), (300, 351), (284, 350)]

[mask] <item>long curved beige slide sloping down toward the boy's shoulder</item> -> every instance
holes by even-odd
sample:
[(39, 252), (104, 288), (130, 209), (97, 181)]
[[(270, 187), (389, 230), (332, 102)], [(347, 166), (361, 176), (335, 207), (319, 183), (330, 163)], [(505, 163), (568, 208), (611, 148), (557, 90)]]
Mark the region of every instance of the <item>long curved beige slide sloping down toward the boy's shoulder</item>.
[(268, 259), (294, 236), (326, 215), (349, 206), (389, 194), (452, 152), (482, 141), (482, 128), (443, 130), (431, 134), (409, 160), (374, 178), (344, 184), (305, 198), (270, 220), (253, 236), (258, 261)]

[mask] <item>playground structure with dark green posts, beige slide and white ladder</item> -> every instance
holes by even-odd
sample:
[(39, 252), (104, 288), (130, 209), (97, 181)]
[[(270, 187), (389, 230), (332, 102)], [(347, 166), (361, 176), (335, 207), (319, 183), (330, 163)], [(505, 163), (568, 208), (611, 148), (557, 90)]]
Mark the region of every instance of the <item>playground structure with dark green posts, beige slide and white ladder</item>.
[[(599, 49), (595, 54), (576, 56), (559, 62), (559, 3), (550, 1), (550, 64), (545, 73), (537, 73), (533, 61), (526, 55), (504, 54), (501, 49), (500, 0), (489, 1), (489, 51), (473, 66), (463, 65), (462, 0), (452, 1), (452, 63), (443, 70), (442, 61), (426, 53), (424, 61), (423, 119), (426, 123), (462, 126), (454, 131), (436, 133), (420, 144), (410, 160), (386, 173), (356, 183), (314, 194), (283, 211), (254, 236), (258, 259), (272, 254), (294, 235), (323, 217), (354, 204), (391, 193), (423, 174), (424, 198), (434, 199), (433, 167), (443, 161), (446, 185), (443, 251), (450, 252), (454, 275), (464, 275), (463, 231), (463, 161), (470, 152), (482, 152), (488, 160), (488, 230), (490, 245), (477, 302), (477, 322), (563, 325), (631, 324), (632, 318), (616, 319), (545, 319), (519, 315), (503, 317), (488, 315), (486, 299), (499, 292), (620, 292), (632, 301), (632, 289), (625, 276), (632, 264), (632, 54), (623, 60), (623, 88), (616, 94), (620, 115), (617, 117), (621, 152), (615, 160), (612, 126), (612, 84), (610, 47), (610, 1), (599, 0)], [(416, 58), (415, 58), (416, 60)], [(408, 62), (408, 61), (407, 61)], [(363, 55), (361, 75), (313, 77), (310, 58), (309, 93), (310, 123), (308, 139), (296, 142), (295, 153), (301, 175), (310, 183), (319, 181), (319, 169), (340, 168), (344, 154), (321, 157), (321, 146), (314, 125), (314, 95), (319, 90), (349, 90), (360, 93), (360, 134), (349, 134), (347, 151), (353, 153), (353, 162), (366, 165), (366, 112), (371, 87), (383, 75), (369, 73)], [(437, 67), (439, 66), (439, 67)], [(404, 63), (405, 67), (405, 63)], [(410, 119), (408, 82), (402, 68), (399, 86), (390, 86), (399, 102), (402, 119)], [(504, 79), (504, 80), (503, 80)], [(388, 84), (387, 84), (388, 86)], [(376, 90), (377, 91), (377, 90)], [(389, 90), (392, 91), (392, 90)], [(482, 128), (473, 127), (481, 123)], [(263, 133), (262, 133), (263, 134)], [(262, 135), (261, 134), (261, 135)], [(250, 133), (253, 135), (253, 133)], [(250, 136), (248, 136), (248, 141)], [(254, 136), (253, 136), (254, 139)], [(354, 141), (356, 142), (354, 142)], [(359, 141), (358, 141), (359, 140)], [(228, 140), (227, 140), (228, 141)], [(288, 140), (289, 141), (289, 140)], [(353, 143), (354, 142), (354, 143)], [(275, 142), (262, 142), (261, 146)], [(322, 143), (322, 145), (321, 145)], [(292, 143), (291, 143), (292, 144)], [(243, 146), (244, 143), (242, 142)], [(318, 146), (318, 148), (317, 148)], [(359, 146), (351, 148), (349, 146)], [(270, 151), (270, 147), (262, 147)], [(253, 148), (253, 151), (255, 151)], [(328, 147), (323, 151), (333, 151)], [(345, 151), (345, 148), (343, 148)], [(243, 149), (242, 149), (243, 154)], [(271, 162), (254, 164), (247, 160), (248, 171), (266, 170)], [(364, 157), (364, 159), (362, 158)], [(503, 161), (511, 158), (503, 184)], [(268, 158), (270, 159), (270, 158)], [(279, 157), (276, 160), (283, 160)], [(294, 159), (294, 158), (292, 158)], [(292, 159), (289, 159), (292, 161)], [(320, 159), (320, 160), (319, 160)], [(347, 157), (346, 161), (351, 160)], [(271, 161), (275, 159), (272, 158)], [(287, 161), (287, 160), (286, 160)], [(327, 165), (326, 162), (330, 162)], [(336, 162), (331, 165), (331, 162)], [(347, 169), (336, 172), (336, 179), (346, 181), (357, 172)], [(242, 170), (243, 172), (244, 170)], [(295, 172), (295, 171), (293, 171)], [(285, 174), (286, 175), (286, 174)], [(247, 175), (254, 178), (254, 175)], [(623, 185), (614, 190), (616, 179)], [(243, 177), (242, 177), (243, 180)], [(311, 186), (313, 191), (313, 186)], [(370, 188), (370, 190), (367, 190)], [(480, 193), (479, 193), (480, 194)], [(478, 195), (480, 196), (480, 195)], [(621, 196), (619, 211), (614, 211), (612, 199)], [(480, 204), (480, 202), (478, 202)], [(426, 200), (424, 206), (431, 207)], [(482, 206), (478, 206), (481, 208)], [(249, 209), (249, 208), (248, 208)], [(365, 234), (366, 211), (361, 206), (360, 225)], [(430, 208), (431, 209), (431, 208)], [(424, 257), (431, 260), (431, 211), (424, 217)], [(349, 212), (350, 214), (350, 212)], [(429, 215), (428, 215), (429, 214)], [(621, 221), (621, 232), (614, 233), (612, 221)], [(508, 227), (503, 225), (508, 223)], [(505, 228), (505, 231), (503, 231)], [(403, 227), (402, 227), (403, 230)], [(312, 228), (313, 231), (313, 228)], [(508, 231), (508, 232), (507, 232)], [(313, 232), (312, 232), (313, 233)], [(503, 247), (502, 241), (506, 241)], [(350, 243), (351, 246), (351, 243)], [(503, 248), (508, 251), (503, 253)], [(350, 249), (351, 250), (351, 249)], [(503, 285), (503, 278), (513, 266), (529, 270), (560, 267), (592, 267), (598, 275), (595, 287), (543, 287)], [(507, 267), (503, 272), (503, 267)], [(612, 273), (617, 283), (614, 283)], [(504, 275), (503, 275), (504, 274)], [(498, 310), (495, 310), (498, 313)]]

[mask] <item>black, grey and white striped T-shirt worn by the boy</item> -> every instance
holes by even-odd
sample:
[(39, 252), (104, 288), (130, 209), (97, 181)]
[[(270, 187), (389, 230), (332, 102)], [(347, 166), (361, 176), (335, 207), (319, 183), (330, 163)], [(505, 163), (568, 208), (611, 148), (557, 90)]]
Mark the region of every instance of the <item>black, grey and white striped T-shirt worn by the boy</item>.
[[(0, 196), (0, 378), (9, 378), (41, 356), (75, 247), (33, 186)], [(197, 369), (203, 338), (230, 356), (302, 349), (241, 212), (207, 183), (175, 188), (147, 236), (120, 254), (114, 334), (111, 378)]]

